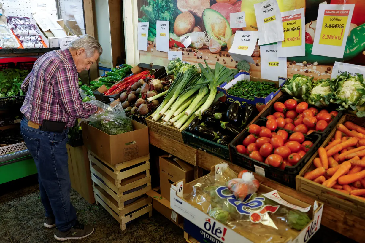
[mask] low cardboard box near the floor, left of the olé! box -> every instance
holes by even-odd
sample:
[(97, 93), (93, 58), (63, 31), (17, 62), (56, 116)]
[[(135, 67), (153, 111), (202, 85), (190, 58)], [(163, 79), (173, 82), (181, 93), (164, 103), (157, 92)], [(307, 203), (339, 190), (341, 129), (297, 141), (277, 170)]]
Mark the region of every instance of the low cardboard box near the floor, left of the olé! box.
[(170, 208), (170, 201), (158, 193), (158, 189), (159, 188), (153, 188), (146, 193), (148, 196), (152, 197), (152, 207), (175, 224), (183, 223), (184, 217)]

